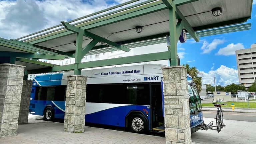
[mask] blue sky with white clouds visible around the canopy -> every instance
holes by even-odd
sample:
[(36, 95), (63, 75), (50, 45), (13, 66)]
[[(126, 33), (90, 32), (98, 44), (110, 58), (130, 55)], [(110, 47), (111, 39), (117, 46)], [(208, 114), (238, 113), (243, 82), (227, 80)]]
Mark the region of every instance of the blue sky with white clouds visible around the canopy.
[[(0, 37), (15, 39), (58, 25), (128, 0), (0, 0)], [(144, 0), (143, 0), (144, 1)], [(256, 0), (253, 0), (251, 30), (200, 37), (178, 42), (182, 64), (195, 66), (203, 84), (238, 84), (235, 50), (250, 48), (256, 43)], [(165, 45), (161, 45), (165, 46)]]

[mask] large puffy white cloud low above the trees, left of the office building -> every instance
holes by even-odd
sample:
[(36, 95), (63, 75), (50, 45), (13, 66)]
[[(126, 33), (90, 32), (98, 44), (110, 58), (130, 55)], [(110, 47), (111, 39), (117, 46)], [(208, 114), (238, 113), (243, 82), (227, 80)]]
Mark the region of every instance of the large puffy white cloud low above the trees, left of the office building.
[(224, 65), (221, 65), (216, 70), (210, 70), (208, 73), (200, 71), (200, 73), (203, 75), (202, 83), (203, 84), (211, 84), (214, 85), (214, 78), (213, 75), (215, 75), (215, 82), (216, 85), (229, 85), (232, 83), (238, 84), (238, 74), (237, 70), (233, 68), (226, 67)]

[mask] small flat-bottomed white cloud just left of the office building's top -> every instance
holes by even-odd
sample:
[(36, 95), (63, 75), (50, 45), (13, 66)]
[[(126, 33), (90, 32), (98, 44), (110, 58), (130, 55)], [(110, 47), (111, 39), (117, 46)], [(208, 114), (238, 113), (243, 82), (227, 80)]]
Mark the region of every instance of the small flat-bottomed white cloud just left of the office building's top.
[(235, 51), (239, 49), (244, 49), (244, 46), (242, 43), (237, 43), (237, 44), (231, 43), (224, 48), (220, 48), (217, 55), (225, 55), (225, 56), (234, 55), (236, 54)]

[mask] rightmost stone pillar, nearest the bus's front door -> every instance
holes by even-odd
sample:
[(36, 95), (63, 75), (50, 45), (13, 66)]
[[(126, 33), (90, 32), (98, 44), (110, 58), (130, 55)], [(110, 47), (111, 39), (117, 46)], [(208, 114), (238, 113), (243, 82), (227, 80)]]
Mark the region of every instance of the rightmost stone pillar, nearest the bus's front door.
[(183, 66), (162, 69), (166, 144), (191, 144), (187, 69)]

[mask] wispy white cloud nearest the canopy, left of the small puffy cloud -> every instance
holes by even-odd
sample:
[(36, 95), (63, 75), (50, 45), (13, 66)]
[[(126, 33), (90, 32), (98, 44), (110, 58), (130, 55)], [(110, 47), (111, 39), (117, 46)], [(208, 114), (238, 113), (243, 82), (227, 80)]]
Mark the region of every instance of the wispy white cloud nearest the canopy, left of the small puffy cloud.
[(212, 50), (216, 49), (216, 47), (219, 44), (223, 44), (223, 43), (224, 43), (224, 40), (221, 40), (221, 39), (214, 39), (210, 44), (205, 40), (201, 47), (201, 49), (203, 50), (202, 53), (203, 54), (210, 53)]

